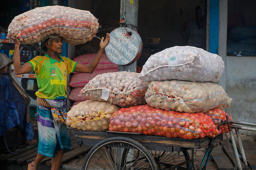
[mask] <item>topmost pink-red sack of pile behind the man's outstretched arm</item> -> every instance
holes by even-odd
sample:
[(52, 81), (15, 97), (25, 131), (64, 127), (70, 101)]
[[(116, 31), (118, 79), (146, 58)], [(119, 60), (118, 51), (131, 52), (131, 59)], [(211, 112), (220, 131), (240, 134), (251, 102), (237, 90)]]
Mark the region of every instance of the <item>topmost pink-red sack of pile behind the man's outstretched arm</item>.
[[(73, 61), (87, 65), (87, 64), (91, 63), (91, 61), (94, 59), (94, 57), (96, 55), (97, 55), (97, 53), (80, 55), (80, 56), (74, 58)], [(97, 65), (95, 70), (102, 70), (102, 69), (118, 69), (118, 65), (115, 63), (112, 63), (108, 59), (106, 53), (102, 53), (102, 55), (100, 57), (99, 64)]]

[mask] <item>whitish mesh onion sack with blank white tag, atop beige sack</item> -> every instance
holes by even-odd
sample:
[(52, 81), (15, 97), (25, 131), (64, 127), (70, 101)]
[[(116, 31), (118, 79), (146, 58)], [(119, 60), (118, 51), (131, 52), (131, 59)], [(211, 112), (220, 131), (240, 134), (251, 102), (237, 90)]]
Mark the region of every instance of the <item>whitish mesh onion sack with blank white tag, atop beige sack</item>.
[(146, 104), (147, 82), (139, 73), (119, 71), (97, 75), (81, 90), (87, 99), (108, 101), (121, 107)]

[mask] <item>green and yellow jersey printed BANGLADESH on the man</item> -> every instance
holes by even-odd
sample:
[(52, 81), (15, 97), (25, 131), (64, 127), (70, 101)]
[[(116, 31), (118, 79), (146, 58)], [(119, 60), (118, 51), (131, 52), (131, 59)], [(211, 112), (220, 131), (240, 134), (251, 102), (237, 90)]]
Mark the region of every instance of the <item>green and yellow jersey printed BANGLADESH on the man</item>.
[(44, 99), (67, 97), (67, 77), (69, 73), (75, 71), (76, 62), (67, 57), (60, 57), (60, 62), (58, 62), (45, 54), (36, 56), (29, 63), (36, 73), (37, 97)]

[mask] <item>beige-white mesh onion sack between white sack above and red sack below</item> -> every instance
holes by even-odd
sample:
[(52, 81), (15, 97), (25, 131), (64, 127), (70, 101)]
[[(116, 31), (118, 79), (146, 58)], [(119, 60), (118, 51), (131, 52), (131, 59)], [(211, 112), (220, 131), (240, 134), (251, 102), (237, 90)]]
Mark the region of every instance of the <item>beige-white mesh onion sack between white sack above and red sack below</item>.
[(232, 101), (216, 83), (179, 80), (151, 82), (145, 99), (151, 107), (187, 113), (224, 109)]

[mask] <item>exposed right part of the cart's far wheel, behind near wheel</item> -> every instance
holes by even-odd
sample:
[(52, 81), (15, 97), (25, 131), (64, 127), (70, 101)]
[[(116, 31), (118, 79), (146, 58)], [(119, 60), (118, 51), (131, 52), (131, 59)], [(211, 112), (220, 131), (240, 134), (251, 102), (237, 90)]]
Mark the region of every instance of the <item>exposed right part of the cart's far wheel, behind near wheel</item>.
[[(182, 152), (167, 152), (167, 151), (154, 151), (150, 150), (152, 156), (154, 157), (158, 169), (171, 169), (172, 166), (178, 165), (190, 159), (188, 151)], [(189, 169), (189, 162), (187, 164), (181, 165), (178, 169)]]

